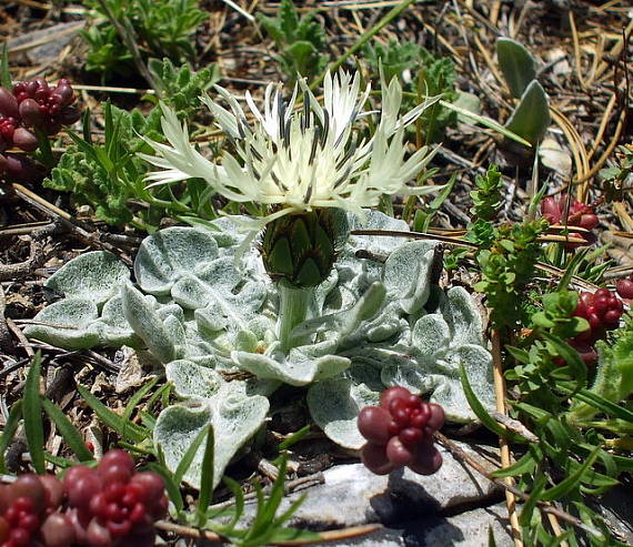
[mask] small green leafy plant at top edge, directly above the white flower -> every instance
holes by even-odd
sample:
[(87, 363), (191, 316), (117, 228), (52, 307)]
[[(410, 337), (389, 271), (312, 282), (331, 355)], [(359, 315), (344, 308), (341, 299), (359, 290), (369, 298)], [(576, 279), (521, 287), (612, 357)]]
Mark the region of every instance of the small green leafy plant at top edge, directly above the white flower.
[(282, 0), (277, 17), (258, 13), (258, 21), (274, 40), (281, 71), (293, 82), (311, 79), (325, 70), (329, 55), (325, 31), (314, 21), (315, 12), (299, 18), (292, 0)]

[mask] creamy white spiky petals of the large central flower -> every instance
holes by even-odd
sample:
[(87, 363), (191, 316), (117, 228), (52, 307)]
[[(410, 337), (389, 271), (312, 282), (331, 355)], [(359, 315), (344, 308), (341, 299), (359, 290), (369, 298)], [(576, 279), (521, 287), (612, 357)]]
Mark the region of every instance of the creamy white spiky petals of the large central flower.
[[(303, 105), (294, 109), (299, 87)], [(373, 112), (363, 111), (370, 85), (361, 93), (359, 73), (353, 79), (344, 71), (334, 77), (328, 73), (322, 104), (304, 81), (294, 87), (288, 102), (282, 99), (281, 84), (269, 84), (263, 111), (247, 92), (251, 123), (234, 97), (219, 85), (215, 90), (229, 110), (209, 97), (201, 100), (233, 142), (235, 153), (224, 152), (220, 163), (207, 160), (189, 142), (187, 125), (162, 104), (162, 129), (171, 145), (147, 140), (159, 155), (143, 158), (161, 168), (149, 173), (150, 185), (201, 178), (229, 200), (272, 206), (272, 213), (253, 221), (250, 230), (314, 207), (362, 213), (378, 205), (382, 194), (422, 195), (441, 188), (406, 185), (434, 151), (424, 146), (405, 159), (403, 142), (404, 128), (439, 98), (399, 118), (402, 89), (396, 79), (389, 85), (383, 82), (380, 121), (374, 134), (360, 141), (354, 124)]]

